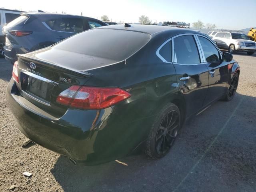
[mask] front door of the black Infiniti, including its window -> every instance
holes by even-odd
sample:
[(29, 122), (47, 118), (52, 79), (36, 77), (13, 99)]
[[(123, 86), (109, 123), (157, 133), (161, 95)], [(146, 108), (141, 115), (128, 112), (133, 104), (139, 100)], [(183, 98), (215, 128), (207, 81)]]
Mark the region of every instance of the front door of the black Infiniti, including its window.
[(222, 61), (221, 52), (214, 42), (206, 36), (196, 35), (202, 50), (203, 60), (208, 68), (209, 87), (204, 105), (223, 96), (228, 90), (229, 70), (228, 62)]

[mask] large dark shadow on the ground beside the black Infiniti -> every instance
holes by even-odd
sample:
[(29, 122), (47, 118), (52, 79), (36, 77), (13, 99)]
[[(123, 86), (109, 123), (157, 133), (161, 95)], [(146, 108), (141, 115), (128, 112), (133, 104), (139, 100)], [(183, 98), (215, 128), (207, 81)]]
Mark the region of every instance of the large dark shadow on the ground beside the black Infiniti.
[(142, 154), (98, 166), (74, 166), (60, 156), (51, 172), (65, 192), (256, 189), (252, 103), (255, 97), (237, 93), (232, 102), (218, 101), (190, 118), (171, 152), (160, 160)]

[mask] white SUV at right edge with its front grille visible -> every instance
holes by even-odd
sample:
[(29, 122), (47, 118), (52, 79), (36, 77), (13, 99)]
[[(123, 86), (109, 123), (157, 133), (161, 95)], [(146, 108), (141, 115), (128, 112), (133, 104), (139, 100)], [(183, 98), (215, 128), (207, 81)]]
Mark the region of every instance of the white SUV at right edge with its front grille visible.
[(252, 55), (256, 49), (254, 41), (250, 40), (245, 34), (238, 32), (218, 32), (212, 39), (219, 48), (228, 49), (230, 53), (242, 51)]

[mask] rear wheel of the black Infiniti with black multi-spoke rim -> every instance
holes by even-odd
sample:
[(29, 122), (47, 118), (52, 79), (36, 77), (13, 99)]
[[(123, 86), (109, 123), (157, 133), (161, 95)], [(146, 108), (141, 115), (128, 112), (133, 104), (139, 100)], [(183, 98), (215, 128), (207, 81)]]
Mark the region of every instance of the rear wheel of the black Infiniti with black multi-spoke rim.
[(152, 124), (146, 142), (146, 154), (153, 159), (164, 157), (174, 144), (180, 129), (180, 110), (173, 104), (166, 104)]

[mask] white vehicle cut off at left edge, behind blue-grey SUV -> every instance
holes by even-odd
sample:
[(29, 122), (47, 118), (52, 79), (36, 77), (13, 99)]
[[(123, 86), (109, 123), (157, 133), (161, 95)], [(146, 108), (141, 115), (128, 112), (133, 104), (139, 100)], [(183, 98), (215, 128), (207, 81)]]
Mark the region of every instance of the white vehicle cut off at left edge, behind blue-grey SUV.
[(12, 20), (18, 18), (20, 16), (20, 12), (21, 11), (18, 11), (18, 10), (0, 8), (0, 57), (4, 57), (5, 37), (4, 37), (4, 34), (2, 33), (2, 29), (5, 24), (8, 24)]

